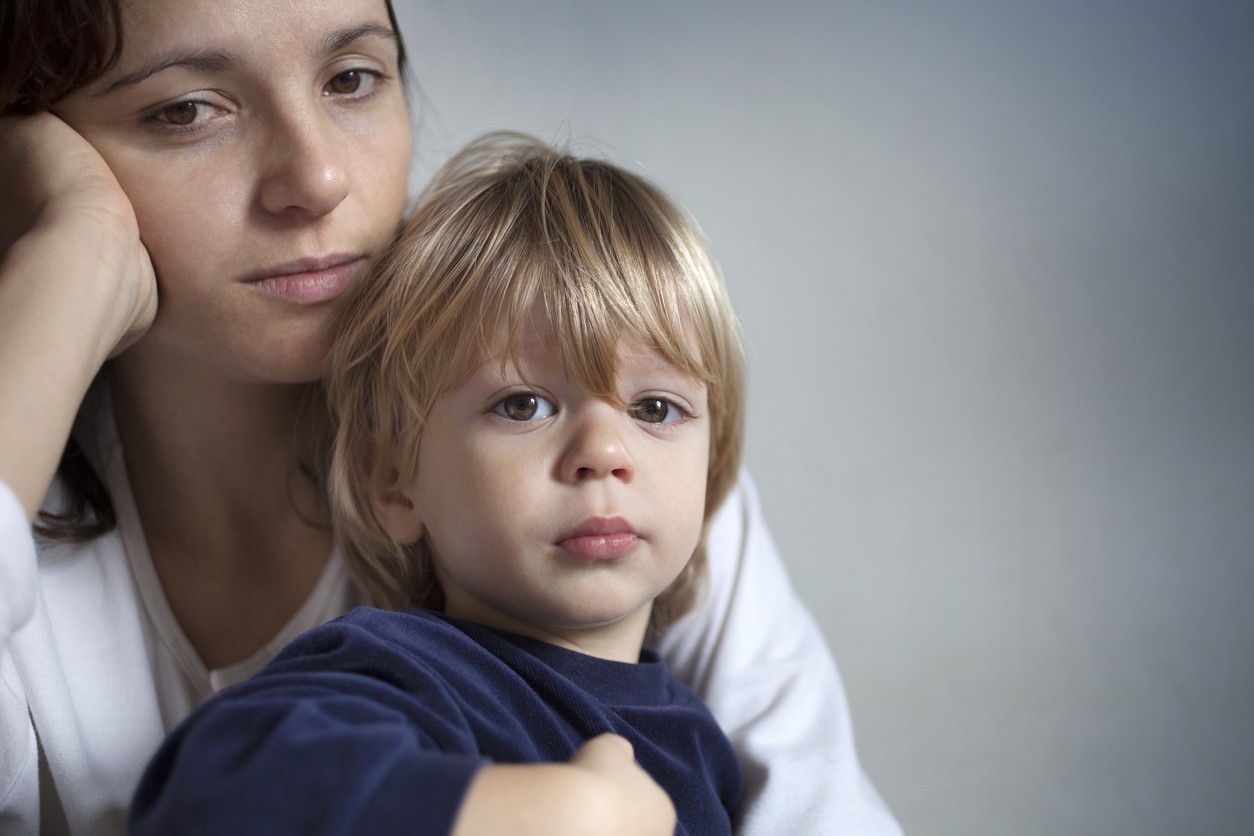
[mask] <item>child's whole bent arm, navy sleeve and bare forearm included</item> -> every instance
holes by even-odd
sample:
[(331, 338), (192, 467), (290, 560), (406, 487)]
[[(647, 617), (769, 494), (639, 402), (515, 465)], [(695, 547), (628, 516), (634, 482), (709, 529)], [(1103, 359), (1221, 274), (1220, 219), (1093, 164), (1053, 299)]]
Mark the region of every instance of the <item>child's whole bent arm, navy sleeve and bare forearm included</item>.
[(490, 697), (480, 708), (508, 719), (468, 722), (464, 681), (351, 618), (306, 633), (179, 724), (144, 772), (129, 832), (673, 833), (670, 798), (630, 743), (601, 736), (564, 763), (493, 763), (480, 733), (518, 734), (518, 752), (534, 752), (525, 724)]

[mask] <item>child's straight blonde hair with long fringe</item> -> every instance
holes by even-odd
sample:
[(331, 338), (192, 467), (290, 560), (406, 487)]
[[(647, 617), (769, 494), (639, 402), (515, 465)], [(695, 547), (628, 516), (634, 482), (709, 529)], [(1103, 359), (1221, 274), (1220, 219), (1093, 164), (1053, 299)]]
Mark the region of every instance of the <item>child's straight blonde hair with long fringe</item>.
[[(701, 380), (711, 421), (706, 525), (735, 483), (740, 328), (696, 224), (613, 164), (523, 134), (489, 134), (419, 197), (347, 306), (329, 361), (331, 506), (349, 569), (374, 603), (443, 605), (425, 544), (389, 536), (372, 491), (413, 480), (431, 406), (499, 356), (502, 333), (505, 362), (533, 311), (547, 316), (566, 374), (606, 400), (618, 400), (624, 338)], [(653, 628), (687, 612), (703, 575), (702, 534), (655, 602)]]

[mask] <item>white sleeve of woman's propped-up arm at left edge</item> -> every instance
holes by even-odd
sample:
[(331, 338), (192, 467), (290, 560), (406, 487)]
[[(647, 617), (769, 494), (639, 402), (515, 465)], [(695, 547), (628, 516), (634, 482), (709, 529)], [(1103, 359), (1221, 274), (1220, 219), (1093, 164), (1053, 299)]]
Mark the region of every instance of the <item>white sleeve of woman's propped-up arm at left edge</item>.
[(0, 481), (0, 831), (39, 827), (39, 756), (9, 643), (35, 609), (35, 540), (26, 511)]

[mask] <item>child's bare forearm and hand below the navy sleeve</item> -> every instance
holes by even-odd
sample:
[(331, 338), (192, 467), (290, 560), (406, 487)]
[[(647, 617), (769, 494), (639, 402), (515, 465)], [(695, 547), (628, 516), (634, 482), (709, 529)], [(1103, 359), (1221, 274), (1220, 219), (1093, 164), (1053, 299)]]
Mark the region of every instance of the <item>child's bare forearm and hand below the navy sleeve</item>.
[(675, 806), (631, 743), (594, 737), (568, 763), (503, 765), (475, 776), (453, 836), (671, 836)]

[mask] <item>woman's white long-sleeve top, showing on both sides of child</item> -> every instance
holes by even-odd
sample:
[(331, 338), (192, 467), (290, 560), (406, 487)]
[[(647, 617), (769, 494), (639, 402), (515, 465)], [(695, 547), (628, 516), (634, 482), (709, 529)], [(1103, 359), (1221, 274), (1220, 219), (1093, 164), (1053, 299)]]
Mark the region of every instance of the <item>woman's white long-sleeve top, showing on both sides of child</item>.
[[(112, 410), (98, 415), (99, 437), (84, 446), (113, 498), (115, 530), (36, 545), (0, 481), (0, 833), (124, 833), (139, 775), (178, 721), (357, 603), (334, 554), (272, 642), (231, 668), (207, 669), (153, 569)], [(744, 475), (711, 524), (706, 599), (660, 651), (741, 760), (736, 832), (900, 833), (858, 763), (835, 664)]]

